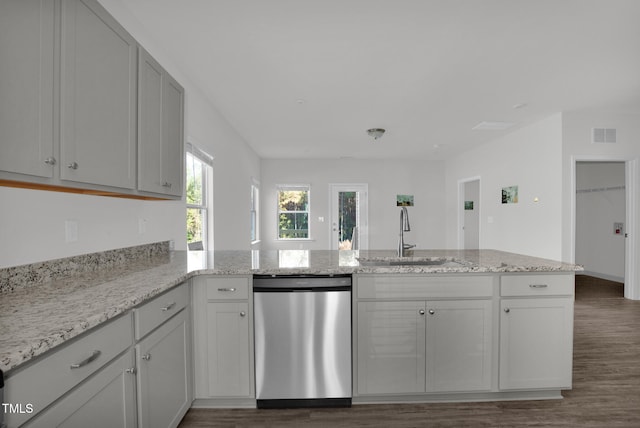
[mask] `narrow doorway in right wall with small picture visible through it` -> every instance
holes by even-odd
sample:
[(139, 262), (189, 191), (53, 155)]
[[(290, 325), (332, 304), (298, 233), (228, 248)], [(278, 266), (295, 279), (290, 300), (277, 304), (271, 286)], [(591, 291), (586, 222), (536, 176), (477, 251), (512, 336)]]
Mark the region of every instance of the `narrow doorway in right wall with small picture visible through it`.
[(480, 177), (458, 182), (458, 248), (480, 248)]

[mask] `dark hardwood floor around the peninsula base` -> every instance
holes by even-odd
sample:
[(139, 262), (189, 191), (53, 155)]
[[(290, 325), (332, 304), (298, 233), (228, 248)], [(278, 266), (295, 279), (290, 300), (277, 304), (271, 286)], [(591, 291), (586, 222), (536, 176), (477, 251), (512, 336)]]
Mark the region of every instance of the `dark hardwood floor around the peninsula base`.
[(191, 409), (196, 427), (640, 427), (640, 301), (622, 284), (576, 277), (573, 389), (562, 400)]

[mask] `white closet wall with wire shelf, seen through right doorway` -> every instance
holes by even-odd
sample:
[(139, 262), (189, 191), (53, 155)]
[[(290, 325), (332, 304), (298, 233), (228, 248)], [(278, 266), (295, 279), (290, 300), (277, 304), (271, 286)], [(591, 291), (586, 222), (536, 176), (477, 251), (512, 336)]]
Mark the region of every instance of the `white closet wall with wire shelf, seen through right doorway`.
[(576, 263), (589, 274), (624, 282), (625, 165), (580, 162), (576, 168)]

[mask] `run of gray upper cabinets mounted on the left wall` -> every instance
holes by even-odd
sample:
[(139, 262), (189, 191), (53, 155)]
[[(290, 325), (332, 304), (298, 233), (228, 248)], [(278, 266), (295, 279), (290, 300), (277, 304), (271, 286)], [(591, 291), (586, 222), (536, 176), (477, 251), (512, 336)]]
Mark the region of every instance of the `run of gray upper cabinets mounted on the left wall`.
[(0, 76), (2, 184), (182, 196), (184, 90), (96, 0), (0, 2)]

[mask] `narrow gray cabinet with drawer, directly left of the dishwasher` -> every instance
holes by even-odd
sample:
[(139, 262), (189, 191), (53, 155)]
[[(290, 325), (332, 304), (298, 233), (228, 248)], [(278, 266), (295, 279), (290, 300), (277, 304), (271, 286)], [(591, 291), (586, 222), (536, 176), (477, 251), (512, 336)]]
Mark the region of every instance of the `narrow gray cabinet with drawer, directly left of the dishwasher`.
[(250, 296), (248, 276), (194, 279), (195, 398), (204, 400), (199, 405), (245, 406), (255, 398)]

